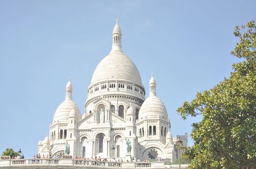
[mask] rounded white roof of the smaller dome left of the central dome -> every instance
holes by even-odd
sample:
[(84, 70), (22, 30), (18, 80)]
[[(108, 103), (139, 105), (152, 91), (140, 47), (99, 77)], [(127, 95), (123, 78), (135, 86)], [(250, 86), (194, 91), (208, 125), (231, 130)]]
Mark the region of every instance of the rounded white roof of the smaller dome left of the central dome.
[(68, 123), (69, 114), (72, 109), (76, 110), (76, 117), (81, 119), (81, 114), (76, 103), (74, 103), (71, 99), (66, 99), (56, 109), (53, 116), (53, 122), (59, 121), (60, 123)]

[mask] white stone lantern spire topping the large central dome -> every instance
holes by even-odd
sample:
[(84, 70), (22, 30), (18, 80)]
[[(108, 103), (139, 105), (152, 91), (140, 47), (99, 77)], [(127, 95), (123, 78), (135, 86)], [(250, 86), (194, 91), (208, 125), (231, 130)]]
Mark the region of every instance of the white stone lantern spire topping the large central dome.
[(112, 51), (122, 51), (122, 46), (121, 46), (122, 33), (118, 25), (118, 21), (119, 20), (116, 19), (116, 25), (114, 26), (113, 33), (112, 33)]

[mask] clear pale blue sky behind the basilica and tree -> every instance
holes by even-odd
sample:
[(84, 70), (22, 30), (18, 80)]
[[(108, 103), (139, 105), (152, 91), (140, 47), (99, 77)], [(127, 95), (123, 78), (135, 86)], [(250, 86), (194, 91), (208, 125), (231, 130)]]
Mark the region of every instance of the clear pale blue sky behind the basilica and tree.
[[(236, 25), (255, 19), (256, 1), (0, 1), (0, 153), (26, 158), (64, 100), (69, 76), (81, 112), (93, 71), (111, 50), (118, 18), (124, 53), (148, 96), (151, 72), (173, 137), (191, 132), (176, 109), (228, 77)], [(193, 142), (189, 138), (189, 145)]]

